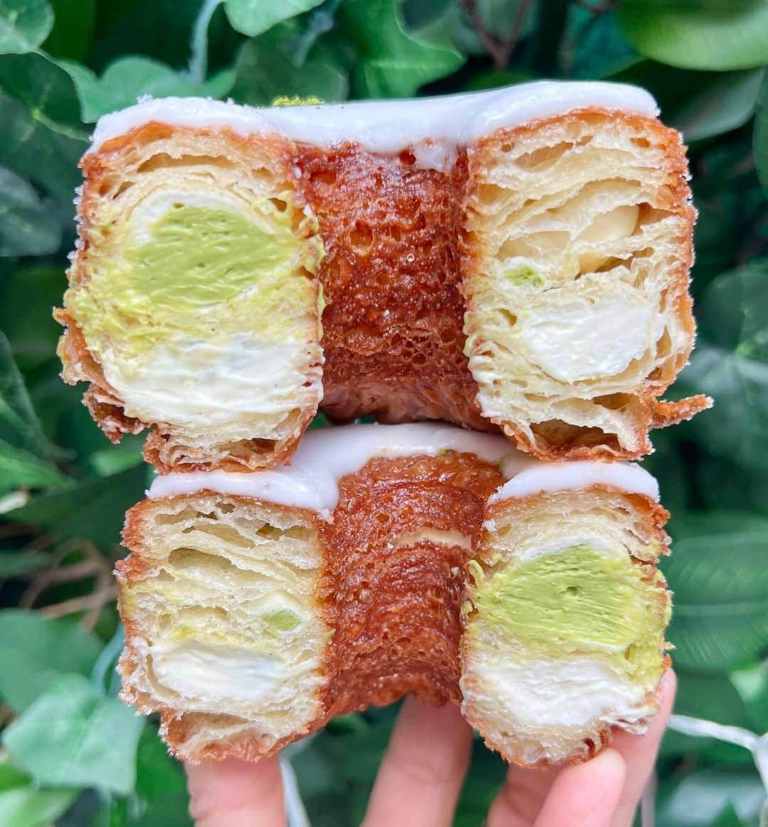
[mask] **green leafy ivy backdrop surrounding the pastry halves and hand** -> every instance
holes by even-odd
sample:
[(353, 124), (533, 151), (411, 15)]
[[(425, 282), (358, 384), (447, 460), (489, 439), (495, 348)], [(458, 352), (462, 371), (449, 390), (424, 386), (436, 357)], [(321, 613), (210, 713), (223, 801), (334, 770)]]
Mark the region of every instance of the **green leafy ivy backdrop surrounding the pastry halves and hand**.
[[(657, 433), (646, 465), (674, 511), (676, 712), (741, 729), (676, 719), (698, 734), (668, 733), (644, 824), (756, 825), (753, 756), (718, 737), (768, 729), (766, 62), (765, 0), (0, 0), (0, 825), (189, 824), (156, 725), (115, 697), (111, 571), (141, 441), (109, 446), (57, 378), (50, 308), (93, 122), (146, 93), (268, 104), (537, 77), (646, 86), (689, 142), (700, 334), (673, 390), (717, 404)], [(358, 823), (394, 715), (293, 750), (312, 824)], [(478, 743), (457, 825), (479, 824), (503, 773)]]

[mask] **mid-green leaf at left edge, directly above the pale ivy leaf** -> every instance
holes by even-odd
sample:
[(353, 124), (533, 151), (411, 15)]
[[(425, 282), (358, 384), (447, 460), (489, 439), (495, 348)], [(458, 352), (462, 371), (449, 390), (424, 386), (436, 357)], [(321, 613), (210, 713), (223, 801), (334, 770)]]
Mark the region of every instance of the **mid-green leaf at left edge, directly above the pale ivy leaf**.
[(73, 620), (40, 612), (0, 611), (0, 696), (22, 712), (60, 674), (89, 675), (102, 643)]

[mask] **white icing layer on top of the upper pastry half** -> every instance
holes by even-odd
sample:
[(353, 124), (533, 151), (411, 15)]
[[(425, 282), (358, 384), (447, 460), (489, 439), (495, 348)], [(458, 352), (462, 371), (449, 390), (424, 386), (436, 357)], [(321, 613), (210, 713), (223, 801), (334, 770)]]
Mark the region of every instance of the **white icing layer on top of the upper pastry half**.
[(313, 146), (352, 141), (383, 154), (410, 149), (417, 165), (445, 170), (453, 164), (458, 146), (468, 146), (502, 127), (584, 107), (658, 114), (655, 100), (645, 89), (594, 81), (543, 80), (436, 98), (262, 109), (206, 98), (157, 98), (101, 117), (90, 151), (157, 121), (183, 127), (229, 127), (241, 135), (276, 131)]

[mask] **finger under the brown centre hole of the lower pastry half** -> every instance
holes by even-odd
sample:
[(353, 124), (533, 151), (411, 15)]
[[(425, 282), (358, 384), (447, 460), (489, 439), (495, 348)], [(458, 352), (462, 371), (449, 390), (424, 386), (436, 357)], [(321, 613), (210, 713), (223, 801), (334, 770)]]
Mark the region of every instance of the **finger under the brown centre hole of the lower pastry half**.
[(458, 708), (406, 698), (373, 785), (364, 827), (448, 827), (467, 774), (472, 729)]

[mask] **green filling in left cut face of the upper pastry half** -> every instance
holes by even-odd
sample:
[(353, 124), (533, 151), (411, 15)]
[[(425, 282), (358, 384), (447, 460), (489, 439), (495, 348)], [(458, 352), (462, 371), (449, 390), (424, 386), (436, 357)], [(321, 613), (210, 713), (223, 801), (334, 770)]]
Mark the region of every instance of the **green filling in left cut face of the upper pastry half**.
[(314, 274), (321, 255), (318, 237), (297, 237), (286, 201), (281, 210), (262, 198), (242, 212), (175, 203), (146, 227), (143, 243), (126, 227), (92, 228), (90, 280), (67, 297), (89, 348), (107, 337), (142, 352), (190, 333), (238, 332), (242, 323), (260, 341), (284, 341), (286, 325), (314, 301), (297, 270)]

